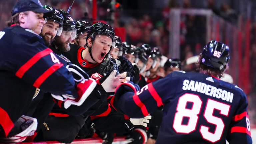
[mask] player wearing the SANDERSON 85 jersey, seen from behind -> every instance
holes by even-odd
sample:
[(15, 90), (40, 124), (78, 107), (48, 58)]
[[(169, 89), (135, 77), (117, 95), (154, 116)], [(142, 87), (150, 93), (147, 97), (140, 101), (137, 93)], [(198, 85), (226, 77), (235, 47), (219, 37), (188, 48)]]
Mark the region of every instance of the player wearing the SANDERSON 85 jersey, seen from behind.
[(140, 91), (123, 83), (114, 106), (130, 117), (143, 117), (164, 104), (158, 144), (251, 144), (246, 94), (219, 80), (228, 61), (229, 47), (212, 40), (200, 55), (200, 73), (174, 71)]

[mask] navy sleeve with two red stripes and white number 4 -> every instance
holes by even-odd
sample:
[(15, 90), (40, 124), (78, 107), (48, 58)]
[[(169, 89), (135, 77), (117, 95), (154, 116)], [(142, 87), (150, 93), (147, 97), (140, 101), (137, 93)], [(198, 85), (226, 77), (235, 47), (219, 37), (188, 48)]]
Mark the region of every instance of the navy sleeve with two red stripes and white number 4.
[(20, 40), (6, 54), (7, 67), (17, 77), (45, 92), (72, 94), (75, 85), (72, 74), (40, 38)]

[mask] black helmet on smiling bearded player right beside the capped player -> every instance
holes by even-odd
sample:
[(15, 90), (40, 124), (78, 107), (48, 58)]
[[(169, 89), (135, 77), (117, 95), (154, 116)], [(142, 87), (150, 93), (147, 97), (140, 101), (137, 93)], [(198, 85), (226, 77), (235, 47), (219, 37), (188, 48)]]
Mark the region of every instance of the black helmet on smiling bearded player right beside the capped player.
[(57, 9), (49, 6), (49, 5), (44, 5), (43, 8), (49, 10), (49, 11), (52, 11), (52, 13), (46, 13), (44, 14), (44, 19), (45, 21), (47, 22), (47, 20), (52, 20), (53, 22), (56, 22), (59, 24), (59, 27), (62, 27), (62, 24), (63, 24), (63, 16), (62, 14), (60, 13), (60, 11), (58, 11)]

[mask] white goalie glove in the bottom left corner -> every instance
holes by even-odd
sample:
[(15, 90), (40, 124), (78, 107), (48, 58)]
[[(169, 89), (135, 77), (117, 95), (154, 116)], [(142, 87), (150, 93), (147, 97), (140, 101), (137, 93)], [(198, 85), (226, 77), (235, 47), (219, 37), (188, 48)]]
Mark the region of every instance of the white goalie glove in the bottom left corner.
[(27, 136), (34, 135), (37, 128), (36, 118), (22, 115), (15, 123), (7, 137), (0, 138), (3, 143), (19, 143), (24, 141)]

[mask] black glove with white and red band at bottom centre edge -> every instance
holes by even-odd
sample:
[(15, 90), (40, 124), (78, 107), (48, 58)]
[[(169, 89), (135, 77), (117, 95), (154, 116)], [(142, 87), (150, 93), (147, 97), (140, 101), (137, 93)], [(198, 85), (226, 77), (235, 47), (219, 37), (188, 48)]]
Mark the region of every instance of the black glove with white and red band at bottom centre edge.
[(144, 144), (148, 140), (147, 131), (141, 128), (136, 128), (130, 131), (125, 139), (131, 141), (128, 144)]

